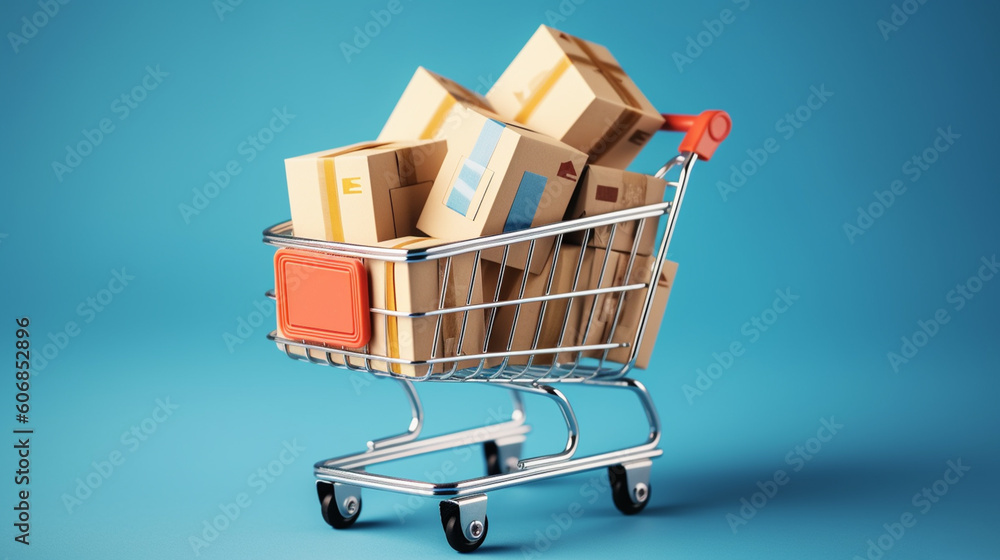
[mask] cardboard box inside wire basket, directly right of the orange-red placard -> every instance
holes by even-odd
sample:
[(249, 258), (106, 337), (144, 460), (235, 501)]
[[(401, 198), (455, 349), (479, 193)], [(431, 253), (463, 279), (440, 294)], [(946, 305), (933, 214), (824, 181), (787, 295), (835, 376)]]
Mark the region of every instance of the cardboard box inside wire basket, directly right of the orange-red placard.
[[(384, 241), (378, 245), (411, 250), (433, 247), (441, 243), (439, 239), (427, 237), (404, 237)], [(472, 304), (483, 302), (480, 271), (477, 269), (473, 276), (474, 260), (473, 254), (452, 257), (445, 287), (446, 308), (464, 306), (467, 302)], [(366, 267), (371, 281), (372, 307), (405, 313), (423, 313), (438, 309), (445, 262), (445, 259), (411, 263), (368, 259)], [(483, 317), (481, 309), (441, 315), (441, 333), (437, 337), (435, 346), (437, 316), (409, 318), (373, 313), (369, 353), (403, 360), (428, 360), (432, 355), (442, 358), (481, 354), (485, 347)], [(465, 333), (459, 345), (463, 322)], [(452, 363), (438, 364), (434, 367), (434, 372), (450, 371)], [(478, 365), (479, 360), (475, 359), (458, 361), (459, 368)], [(428, 369), (427, 366), (390, 364), (377, 360), (372, 360), (371, 366), (378, 371), (391, 371), (410, 376), (422, 376)]]

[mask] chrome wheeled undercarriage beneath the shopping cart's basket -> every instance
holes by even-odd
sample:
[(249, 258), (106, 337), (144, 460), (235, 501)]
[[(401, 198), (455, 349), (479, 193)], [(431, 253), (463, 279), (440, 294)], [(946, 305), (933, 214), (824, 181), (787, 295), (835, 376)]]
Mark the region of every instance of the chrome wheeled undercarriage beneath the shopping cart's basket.
[[(413, 411), (413, 418), (406, 432), (371, 442), (368, 450), (363, 453), (327, 459), (315, 465), (317, 493), (323, 518), (334, 528), (350, 527), (358, 518), (362, 488), (424, 497), (442, 496), (448, 498), (440, 505), (441, 523), (448, 544), (459, 552), (471, 552), (482, 544), (489, 530), (486, 492), (601, 468), (608, 469), (612, 498), (622, 513), (638, 513), (649, 503), (651, 459), (663, 453), (657, 449), (660, 421), (649, 392), (634, 379), (592, 379), (577, 385), (617, 388), (634, 393), (649, 422), (646, 441), (636, 446), (580, 458), (574, 458), (580, 433), (576, 415), (565, 395), (551, 386), (489, 383), (511, 391), (514, 411), (509, 421), (486, 429), (463, 430), (420, 440), (416, 439), (423, 424), (419, 397), (411, 383), (401, 381), (401, 384)], [(567, 431), (566, 445), (562, 451), (518, 460), (521, 444), (530, 429), (525, 424), (521, 393), (547, 397), (559, 407)], [(488, 472), (482, 477), (435, 483), (396, 478), (365, 470), (378, 463), (478, 443), (484, 444), (487, 453)]]

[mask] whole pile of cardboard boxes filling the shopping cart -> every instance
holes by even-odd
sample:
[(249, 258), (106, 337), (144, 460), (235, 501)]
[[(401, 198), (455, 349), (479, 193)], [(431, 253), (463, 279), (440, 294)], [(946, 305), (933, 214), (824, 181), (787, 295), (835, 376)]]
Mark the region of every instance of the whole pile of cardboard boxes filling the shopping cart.
[[(624, 169), (662, 124), (606, 48), (541, 26), (485, 97), (418, 68), (376, 141), (286, 160), (294, 233), (421, 249), (653, 204), (663, 199), (666, 183)], [(445, 307), (454, 307), (650, 283), (656, 219), (640, 227), (641, 234), (631, 222), (597, 228), (586, 240), (566, 236), (558, 250), (554, 239), (542, 238), (530, 253), (528, 243), (518, 243), (483, 251), (479, 263), (473, 255), (452, 258), (447, 267), (440, 259), (368, 259), (371, 305), (422, 313), (437, 309), (442, 293)], [(657, 279), (638, 367), (648, 363), (675, 270), (665, 263)], [(413, 361), (600, 344), (609, 337), (630, 342), (646, 291), (625, 293), (623, 302), (615, 293), (446, 313), (440, 330), (437, 316), (373, 313), (368, 352)], [(280, 320), (279, 334), (295, 338)], [(616, 348), (607, 359), (624, 361), (629, 353)], [(571, 352), (534, 354), (510, 363), (577, 359)], [(349, 362), (404, 375), (426, 371)]]

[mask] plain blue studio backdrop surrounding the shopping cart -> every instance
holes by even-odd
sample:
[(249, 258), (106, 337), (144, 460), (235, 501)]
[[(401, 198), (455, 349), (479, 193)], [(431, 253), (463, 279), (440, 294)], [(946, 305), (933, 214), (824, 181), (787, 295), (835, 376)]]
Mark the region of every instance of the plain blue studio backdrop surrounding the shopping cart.
[[(498, 492), (481, 552), (863, 557), (884, 523), (912, 512), (916, 525), (885, 558), (996, 558), (1000, 281), (961, 310), (948, 294), (1000, 245), (1000, 7), (930, 0), (886, 39), (877, 22), (891, 17), (890, 0), (649, 4), (405, 1), (348, 60), (341, 43), (387, 2), (248, 0), (222, 17), (209, 0), (71, 2), (27, 43), (0, 47), (4, 352), (13, 354), (17, 316), (31, 317), (36, 356), (68, 321), (79, 325), (44, 369), (34, 361), (30, 548), (12, 540), (16, 457), (4, 438), (0, 558), (193, 557), (189, 537), (240, 492), (251, 505), (200, 557), (449, 553), (431, 500), (367, 492), (357, 526), (336, 534), (319, 515), (312, 462), (401, 429), (396, 388), (286, 359), (264, 338), (273, 315), (242, 344), (223, 337), (272, 285), (260, 231), (289, 215), (283, 158), (374, 137), (418, 65), (485, 91), (540, 23), (607, 45), (660, 110), (726, 109), (735, 127), (696, 166), (670, 250), (680, 262), (673, 299), (654, 365), (639, 374), (666, 432), (652, 503), (620, 515), (602, 472)], [(707, 46), (678, 64), (673, 54), (724, 9), (735, 20), (710, 43), (702, 34)], [(39, 10), (4, 2), (0, 30), (21, 33), (21, 18)], [(122, 119), (115, 100), (147, 66), (168, 75)], [(814, 86), (833, 95), (800, 110), (809, 118), (789, 137), (779, 121)], [(294, 118), (247, 161), (241, 143), (284, 108)], [(114, 130), (57, 177), (53, 162), (104, 118)], [(939, 127), (960, 137), (912, 181), (904, 164)], [(778, 151), (724, 197), (731, 166), (769, 138)], [(633, 169), (652, 172), (678, 140), (656, 138)], [(185, 219), (179, 205), (230, 160), (240, 173)], [(897, 179), (905, 193), (849, 239), (844, 224)], [(134, 280), (101, 312), (79, 313), (122, 267)], [(751, 342), (744, 323), (786, 288), (800, 299)], [(887, 353), (939, 308), (949, 322), (894, 371)], [(745, 354), (701, 395), (685, 395), (734, 341)], [(13, 429), (13, 371), (3, 371), (0, 416)], [(501, 391), (428, 385), (428, 433), (510, 412)], [(629, 398), (568, 392), (579, 397), (584, 451), (644, 436)], [(147, 420), (157, 399), (179, 407), (160, 424)], [(558, 447), (556, 413), (528, 406), (528, 452)], [(831, 416), (843, 428), (793, 472), (786, 454)], [(122, 434), (144, 420), (155, 432), (126, 445)], [(248, 480), (284, 442), (305, 451), (263, 489)], [(124, 463), (67, 508), (64, 495), (115, 451)], [(473, 451), (384, 472), (433, 475), (450, 460), (459, 476), (477, 476)], [(958, 459), (971, 470), (921, 513), (912, 496)], [(779, 469), (790, 482), (734, 532), (727, 514)], [(557, 520), (574, 502), (583, 515), (563, 529)]]

